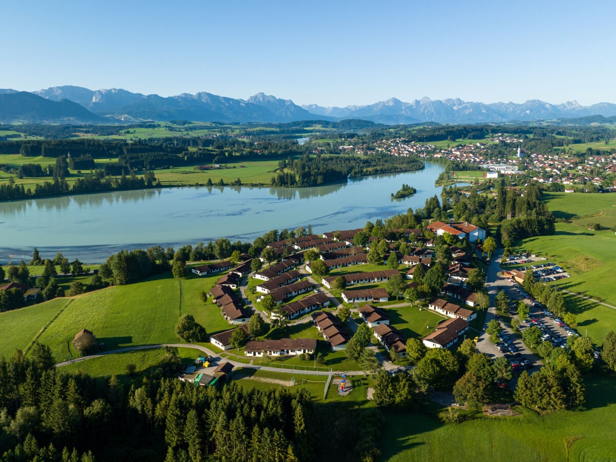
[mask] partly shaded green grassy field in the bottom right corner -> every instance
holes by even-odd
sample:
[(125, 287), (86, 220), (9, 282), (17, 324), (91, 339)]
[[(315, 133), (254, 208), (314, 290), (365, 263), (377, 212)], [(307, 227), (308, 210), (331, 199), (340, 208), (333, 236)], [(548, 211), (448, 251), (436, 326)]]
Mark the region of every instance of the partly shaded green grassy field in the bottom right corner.
[[(416, 413), (387, 412), (383, 460), (390, 461), (607, 461), (616, 459), (613, 378), (586, 380), (588, 410), (545, 416), (522, 409), (518, 417), (474, 416), (443, 425)], [(579, 437), (570, 447), (567, 442)], [(569, 440), (568, 440), (569, 439)], [(455, 448), (455, 449), (454, 449)]]

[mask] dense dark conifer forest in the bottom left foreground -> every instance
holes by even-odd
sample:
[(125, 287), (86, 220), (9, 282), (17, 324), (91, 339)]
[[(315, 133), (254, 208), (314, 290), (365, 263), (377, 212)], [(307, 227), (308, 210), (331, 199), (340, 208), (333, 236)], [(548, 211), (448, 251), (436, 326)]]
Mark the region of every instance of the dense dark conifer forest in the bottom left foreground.
[[(54, 367), (43, 344), (0, 359), (0, 460), (356, 461), (378, 454), (376, 409), (317, 410), (306, 389), (201, 387), (168, 348), (141, 381)], [(362, 421), (362, 425), (353, 425)], [(318, 442), (318, 444), (315, 444)]]

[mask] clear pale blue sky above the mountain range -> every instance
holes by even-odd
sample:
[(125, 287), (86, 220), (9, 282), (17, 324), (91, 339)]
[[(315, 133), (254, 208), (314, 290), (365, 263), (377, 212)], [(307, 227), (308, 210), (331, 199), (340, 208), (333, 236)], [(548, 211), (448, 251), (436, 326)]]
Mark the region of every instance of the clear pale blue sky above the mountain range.
[(616, 103), (615, 2), (92, 3), (3, 4), (0, 88)]

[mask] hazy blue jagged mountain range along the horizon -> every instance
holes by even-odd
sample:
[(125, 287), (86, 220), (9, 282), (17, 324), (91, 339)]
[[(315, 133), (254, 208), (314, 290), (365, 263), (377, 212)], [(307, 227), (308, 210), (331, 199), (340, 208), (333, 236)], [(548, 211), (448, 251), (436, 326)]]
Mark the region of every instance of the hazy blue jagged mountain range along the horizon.
[(247, 100), (208, 92), (171, 97), (144, 95), (123, 89), (90, 90), (77, 86), (50, 87), (36, 92), (0, 89), (2, 123), (132, 123), (141, 121), (217, 121), (284, 123), (301, 120), (362, 119), (383, 124), (501, 123), (586, 116), (616, 116), (616, 104), (558, 105), (541, 100), (524, 103), (480, 103), (461, 99), (422, 98), (407, 103), (396, 98), (347, 107), (299, 106), (291, 100), (258, 93)]

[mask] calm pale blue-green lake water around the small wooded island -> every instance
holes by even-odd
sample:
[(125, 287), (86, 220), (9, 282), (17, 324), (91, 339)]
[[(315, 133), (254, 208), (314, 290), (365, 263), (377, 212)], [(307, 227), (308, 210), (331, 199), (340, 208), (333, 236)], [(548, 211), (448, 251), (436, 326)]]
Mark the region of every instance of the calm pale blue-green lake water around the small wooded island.
[[(0, 203), (0, 262), (62, 252), (71, 261), (103, 262), (121, 249), (195, 245), (219, 237), (253, 241), (272, 229), (312, 225), (315, 233), (363, 227), (440, 195), (443, 170), (349, 179), (314, 188), (185, 187)], [(408, 184), (415, 196), (391, 200)]]

